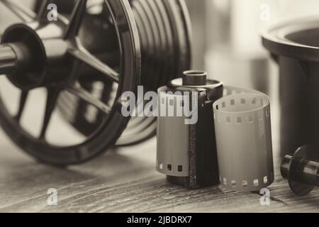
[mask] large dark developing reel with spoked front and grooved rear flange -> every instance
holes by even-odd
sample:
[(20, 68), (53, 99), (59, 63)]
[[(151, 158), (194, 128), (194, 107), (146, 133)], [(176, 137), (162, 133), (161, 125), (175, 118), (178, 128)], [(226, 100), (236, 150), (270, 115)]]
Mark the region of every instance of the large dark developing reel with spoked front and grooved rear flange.
[[(57, 21), (47, 20), (50, 3), (59, 9)], [(6, 102), (13, 99), (1, 92), (0, 124), (26, 153), (52, 165), (73, 165), (105, 152), (121, 135), (118, 145), (154, 135), (155, 118), (130, 121), (121, 114), (121, 95), (136, 93), (139, 84), (157, 89), (189, 68), (184, 1), (46, 0), (38, 1), (36, 13), (16, 1), (0, 1), (0, 7), (21, 21), (0, 30), (0, 74), (18, 92), (13, 111)], [(23, 119), (39, 90), (47, 95), (43, 116), (33, 108), (42, 118), (33, 131)], [(52, 143), (57, 107), (69, 120), (59, 131), (71, 123), (82, 133), (80, 140)]]

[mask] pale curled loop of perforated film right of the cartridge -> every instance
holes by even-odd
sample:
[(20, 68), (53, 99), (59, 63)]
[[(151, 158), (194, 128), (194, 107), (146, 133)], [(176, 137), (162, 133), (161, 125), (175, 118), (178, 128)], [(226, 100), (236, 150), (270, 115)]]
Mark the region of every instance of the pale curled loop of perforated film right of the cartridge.
[(274, 182), (270, 99), (261, 92), (225, 87), (213, 104), (220, 183), (240, 192)]

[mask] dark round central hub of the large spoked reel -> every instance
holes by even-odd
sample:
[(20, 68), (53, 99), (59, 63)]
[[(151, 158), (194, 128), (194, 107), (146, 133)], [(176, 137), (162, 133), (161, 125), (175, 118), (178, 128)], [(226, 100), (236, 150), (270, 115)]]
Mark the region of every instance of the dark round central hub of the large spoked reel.
[(15, 56), (7, 74), (10, 81), (22, 90), (30, 90), (72, 80), (74, 61), (66, 56), (79, 44), (77, 38), (63, 35), (64, 28), (57, 23), (18, 23), (7, 28), (1, 44), (9, 46)]

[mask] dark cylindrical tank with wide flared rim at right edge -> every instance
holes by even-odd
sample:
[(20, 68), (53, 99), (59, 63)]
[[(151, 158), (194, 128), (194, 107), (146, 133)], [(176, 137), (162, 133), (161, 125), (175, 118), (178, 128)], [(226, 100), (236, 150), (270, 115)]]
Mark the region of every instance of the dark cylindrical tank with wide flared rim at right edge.
[(281, 23), (263, 34), (279, 64), (282, 155), (319, 143), (319, 18)]

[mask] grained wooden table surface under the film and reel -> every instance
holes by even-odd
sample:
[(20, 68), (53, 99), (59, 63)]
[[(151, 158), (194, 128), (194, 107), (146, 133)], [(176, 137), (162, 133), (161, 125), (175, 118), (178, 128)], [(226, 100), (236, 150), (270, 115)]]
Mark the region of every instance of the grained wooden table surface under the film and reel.
[[(1, 79), (0, 79), (1, 80)], [(4, 84), (0, 81), (0, 85)], [(1, 95), (16, 99), (9, 86)], [(39, 125), (45, 96), (31, 96), (33, 105), (23, 126)], [(17, 96), (17, 94), (16, 94)], [(42, 99), (42, 100), (41, 100)], [(9, 102), (9, 106), (13, 101)], [(34, 105), (37, 107), (35, 108)], [(279, 108), (272, 102), (274, 156), (279, 152)], [(62, 121), (52, 123), (57, 140), (64, 140)], [(291, 193), (279, 175), (275, 158), (275, 182), (269, 189), (269, 206), (260, 204), (257, 193), (230, 192), (220, 187), (189, 190), (169, 184), (155, 170), (156, 140), (129, 148), (109, 150), (84, 165), (59, 169), (43, 165), (24, 154), (0, 131), (0, 212), (303, 212), (319, 211), (319, 190), (304, 197)], [(57, 189), (57, 206), (47, 205), (47, 190)]]

